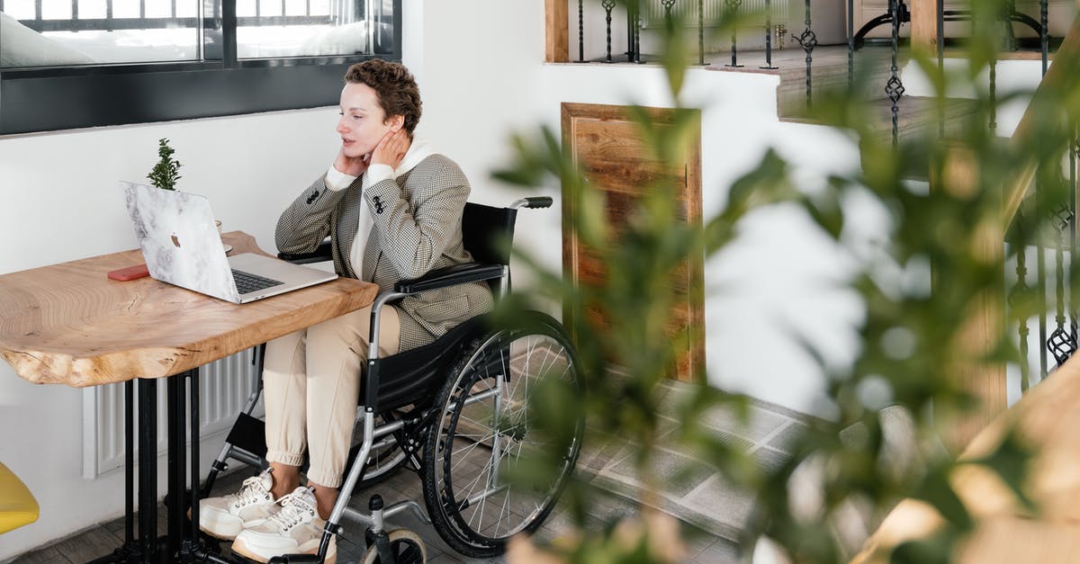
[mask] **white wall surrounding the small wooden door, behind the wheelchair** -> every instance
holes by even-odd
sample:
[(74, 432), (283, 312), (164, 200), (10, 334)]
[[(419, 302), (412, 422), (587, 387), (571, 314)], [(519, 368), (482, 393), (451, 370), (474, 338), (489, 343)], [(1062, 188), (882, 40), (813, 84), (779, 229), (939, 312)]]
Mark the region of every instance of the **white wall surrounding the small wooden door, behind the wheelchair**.
[[(571, 21), (576, 17), (575, 8)], [(423, 45), (419, 53), (406, 51), (406, 63), (420, 68), (423, 133), (438, 147), (453, 147), (447, 151), (470, 174), (475, 200), (502, 203), (517, 196), (486, 178), (487, 171), (504, 165), (511, 132), (535, 132), (538, 123), (557, 132), (562, 102), (672, 105), (663, 73), (653, 66), (541, 65), (542, 2), (429, 0), (422, 21)], [(571, 57), (576, 41), (573, 29)], [(471, 56), (476, 53), (483, 56)], [(706, 218), (721, 210), (728, 186), (769, 146), (793, 161), (807, 188), (859, 165), (856, 147), (843, 135), (778, 120), (778, 80), (688, 71), (684, 102), (703, 109)], [(558, 186), (552, 184), (546, 193), (557, 202)], [(529, 211), (518, 217), (516, 245), (557, 270), (559, 215)], [(861, 309), (853, 296), (832, 287), (845, 273), (841, 259), (799, 213), (774, 210), (754, 217), (745, 241), (706, 264), (706, 286), (714, 288), (705, 305), (710, 381), (794, 409), (820, 411), (821, 371), (791, 332), (822, 348), (831, 362), (851, 357), (851, 327)], [(721, 285), (730, 287), (715, 290)]]

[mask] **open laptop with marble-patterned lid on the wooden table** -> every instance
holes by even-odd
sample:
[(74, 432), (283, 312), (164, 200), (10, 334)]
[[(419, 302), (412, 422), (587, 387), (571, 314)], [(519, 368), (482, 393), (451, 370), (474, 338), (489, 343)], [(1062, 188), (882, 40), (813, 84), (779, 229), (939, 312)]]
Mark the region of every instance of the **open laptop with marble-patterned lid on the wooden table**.
[(147, 270), (156, 280), (233, 304), (327, 282), (334, 272), (255, 253), (227, 257), (202, 196), (121, 182)]

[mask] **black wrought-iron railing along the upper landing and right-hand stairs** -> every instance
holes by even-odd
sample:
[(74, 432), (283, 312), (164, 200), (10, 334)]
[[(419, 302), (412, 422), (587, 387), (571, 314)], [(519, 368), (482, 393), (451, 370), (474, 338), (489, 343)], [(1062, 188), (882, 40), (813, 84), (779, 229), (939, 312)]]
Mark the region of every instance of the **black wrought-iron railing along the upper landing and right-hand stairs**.
[[(647, 0), (650, 2), (658, 3), (659, 10), (662, 10), (663, 17), (669, 19), (673, 14), (678, 13), (684, 16), (684, 25), (697, 26), (699, 42), (698, 42), (698, 53), (697, 59), (699, 64), (703, 64), (706, 58), (706, 51), (704, 48), (703, 37), (705, 35), (705, 28), (711, 25), (703, 17), (706, 9), (703, 5), (703, 0)], [(712, 0), (713, 5), (718, 5), (729, 15), (741, 13), (741, 11), (746, 10), (745, 2), (753, 0)], [(812, 108), (813, 102), (813, 57), (814, 50), (819, 46), (819, 40), (813, 28), (813, 22), (811, 19), (812, 14), (812, 0), (805, 0), (802, 5), (802, 29), (798, 31), (798, 35), (793, 32), (791, 37), (805, 51), (805, 67), (806, 67), (806, 108), (809, 110)], [(625, 10), (625, 15), (627, 17), (627, 36), (631, 40), (627, 42), (626, 51), (622, 54), (612, 53), (612, 22), (615, 19), (615, 10), (620, 4), (612, 0), (605, 0), (600, 5), (605, 10), (605, 23), (606, 29), (606, 51), (599, 55), (593, 53), (592, 58), (590, 54), (585, 51), (585, 33), (595, 32), (595, 30), (589, 30), (585, 27), (585, 10), (584, 1), (578, 0), (578, 62), (585, 63), (589, 61), (603, 61), (606, 63), (640, 63), (647, 61), (648, 56), (642, 53), (640, 49), (640, 32), (643, 27), (642, 14), (649, 13), (650, 10), (642, 9), (630, 9)], [(765, 6), (768, 9), (770, 2), (766, 2)], [(944, 72), (944, 59), (945, 59), (945, 44), (949, 39), (946, 37), (945, 22), (956, 22), (959, 19), (971, 18), (970, 11), (962, 10), (946, 10), (944, 0), (936, 0), (936, 13), (940, 14), (936, 21), (936, 45), (932, 50), (928, 49), (928, 52), (936, 52), (936, 58), (939, 64), (939, 71)], [(657, 10), (652, 10), (657, 12)], [(1040, 0), (1039, 2), (1039, 17), (1038, 19), (1020, 14), (1016, 12), (1014, 4), (1010, 3), (1003, 6), (1000, 14), (1000, 21), (1003, 28), (1007, 29), (1004, 33), (1003, 44), (1007, 49), (1015, 49), (1017, 45), (1016, 38), (1013, 35), (1013, 25), (1022, 25), (1030, 28), (1038, 33), (1038, 44), (1039, 44), (1039, 55), (1042, 62), (1043, 76), (1048, 75), (1048, 69), (1053, 70), (1049, 66), (1050, 58), (1050, 27), (1049, 27), (1049, 11), (1047, 0)], [(771, 28), (772, 19), (767, 12), (765, 14), (766, 22), (766, 33), (761, 38), (764, 43), (764, 50), (759, 52), (754, 52), (751, 56), (764, 58), (764, 64), (761, 68), (775, 69), (778, 66), (783, 64), (791, 65), (789, 57), (787, 63), (774, 64), (772, 58), (772, 38)], [(905, 0), (890, 0), (888, 4), (888, 12), (878, 17), (870, 19), (866, 25), (862, 26), (860, 29), (855, 29), (855, 11), (853, 0), (847, 1), (847, 26), (846, 26), (846, 43), (847, 43), (847, 70), (848, 70), (848, 85), (854, 88), (854, 67), (858, 53), (866, 38), (866, 35), (873, 29), (873, 27), (879, 25), (888, 25), (889, 38), (888, 48), (890, 51), (890, 57), (888, 58), (888, 78), (880, 85), (880, 92), (883, 93), (883, 97), (889, 100), (890, 105), (890, 118), (891, 118), (891, 135), (893, 146), (896, 147), (900, 140), (900, 115), (901, 107), (904, 99), (905, 88), (901, 80), (900, 73), (900, 56), (904, 44), (901, 39), (901, 28), (910, 22), (910, 11), (907, 6)], [(1072, 30), (1066, 36), (1064, 42), (1062, 43), (1056, 57), (1062, 58), (1080, 58), (1080, 19), (1078, 23), (1074, 24)], [(730, 62), (725, 63), (723, 66), (727, 68), (739, 68), (743, 67), (744, 64), (740, 62), (740, 57), (743, 61), (747, 58), (747, 53), (745, 51), (740, 52), (739, 40), (740, 32), (744, 31), (746, 28), (731, 28), (730, 35)], [(933, 33), (933, 31), (931, 31)], [(715, 54), (715, 53), (714, 53)], [(727, 57), (725, 57), (727, 58)], [(691, 62), (688, 62), (691, 64)], [(1080, 75), (1080, 63), (1074, 65), (1065, 65), (1066, 67), (1076, 66), (1076, 73)], [(718, 67), (720, 68), (720, 67)], [(1055, 67), (1056, 68), (1056, 67)], [(1065, 72), (1065, 69), (1058, 69)], [(942, 77), (943, 78), (943, 77)], [(1077, 81), (1077, 90), (1080, 90), (1080, 78), (1075, 79)], [(997, 61), (991, 61), (989, 64), (989, 83), (988, 83), (988, 99), (989, 109), (986, 113), (986, 126), (991, 132), (997, 130)], [(1036, 93), (1036, 97), (1039, 93)], [(944, 105), (940, 105), (936, 115), (936, 125), (939, 137), (945, 136), (945, 109)], [(1039, 135), (1038, 132), (1023, 131), (1026, 125), (1027, 119), (1021, 122), (1017, 127), (1017, 133), (1013, 136), (1013, 143), (1034, 143), (1032, 135)], [(1031, 126), (1035, 127), (1035, 126)], [(1028, 127), (1028, 129), (1031, 129)], [(1026, 140), (1025, 140), (1026, 139)], [(1007, 299), (1008, 301), (1013, 301), (1017, 296), (1025, 296), (1025, 299), (1035, 299), (1036, 306), (1035, 311), (1037, 313), (1031, 314), (1030, 319), (1010, 319), (1012, 323), (1011, 333), (1013, 333), (1013, 338), (1017, 344), (1020, 358), (1023, 359), (1020, 366), (1021, 372), (1021, 382), (1020, 387), (1022, 390), (1027, 390), (1031, 385), (1038, 382), (1042, 378), (1047, 377), (1055, 366), (1059, 366), (1066, 360), (1068, 360), (1078, 349), (1078, 303), (1074, 299), (1070, 288), (1072, 287), (1075, 281), (1071, 279), (1071, 272), (1080, 271), (1080, 266), (1074, 265), (1072, 260), (1077, 255), (1077, 193), (1080, 191), (1080, 180), (1078, 180), (1078, 166), (1080, 166), (1080, 131), (1074, 125), (1071, 131), (1071, 143), (1068, 148), (1067, 155), (1064, 155), (1061, 163), (1053, 163), (1051, 166), (1059, 167), (1062, 170), (1067, 170), (1066, 177), (1062, 179), (1062, 184), (1066, 187), (1065, 191), (1056, 190), (1053, 196), (1045, 193), (1043, 186), (1039, 182), (1036, 182), (1035, 169), (1037, 163), (1016, 163), (1015, 164), (1015, 187), (1010, 187), (1010, 193), (1007, 194), (1007, 218), (1015, 218), (1017, 225), (1011, 228), (1011, 236), (1014, 240), (1005, 241), (1007, 244), (1012, 245), (1011, 260), (1012, 263), (1008, 265), (1008, 268), (1012, 271), (1013, 281), (1011, 282), (1011, 287), (1008, 288)], [(1067, 192), (1067, 197), (1063, 196)], [(1034, 202), (1032, 205), (1025, 205), (1022, 210), (1021, 201), (1028, 199)], [(1056, 198), (1061, 201), (1047, 202), (1044, 200), (1049, 198)], [(1042, 214), (1049, 217), (1025, 217), (1025, 215), (1030, 216), (1031, 214)], [(1024, 232), (1023, 224), (1030, 225), (1052, 225), (1055, 229), (1051, 229), (1053, 236), (1047, 237), (1044, 233), (1035, 234), (1031, 232)], [(1034, 229), (1034, 228), (1032, 228)], [(1018, 243), (1017, 243), (1018, 241)], [(1018, 246), (1017, 246), (1018, 244)], [(1076, 258), (1080, 260), (1080, 258)], [(1031, 296), (1035, 296), (1034, 298)], [(1027, 309), (1030, 311), (1030, 309)], [(1032, 340), (1037, 339), (1037, 340)]]

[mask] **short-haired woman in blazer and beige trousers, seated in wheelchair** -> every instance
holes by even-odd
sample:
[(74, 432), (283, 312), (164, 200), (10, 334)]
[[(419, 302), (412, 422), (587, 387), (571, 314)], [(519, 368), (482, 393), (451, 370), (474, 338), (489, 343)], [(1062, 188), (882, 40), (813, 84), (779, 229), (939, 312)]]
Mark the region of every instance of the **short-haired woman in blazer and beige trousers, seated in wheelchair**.
[[(281, 252), (312, 252), (329, 236), (338, 274), (380, 291), (472, 260), (461, 241), (469, 182), (454, 161), (414, 139), (420, 106), (404, 66), (372, 59), (349, 68), (337, 126), (341, 148), (278, 220)], [(483, 283), (406, 297), (382, 309), (379, 353), (429, 344), (490, 308)], [(318, 551), (345, 472), (369, 324), (365, 308), (267, 344), (270, 469), (237, 494), (203, 500), (203, 531), (235, 538), (232, 550), (259, 562)], [(306, 451), (307, 487), (299, 483)], [(335, 559), (332, 545), (326, 561)]]

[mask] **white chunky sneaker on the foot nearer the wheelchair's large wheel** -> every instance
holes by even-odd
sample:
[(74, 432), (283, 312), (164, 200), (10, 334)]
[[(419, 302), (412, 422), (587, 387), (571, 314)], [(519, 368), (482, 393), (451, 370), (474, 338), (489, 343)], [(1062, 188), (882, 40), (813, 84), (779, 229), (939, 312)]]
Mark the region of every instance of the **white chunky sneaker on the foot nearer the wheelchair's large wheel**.
[[(319, 519), (315, 493), (310, 487), (297, 487), (278, 502), (281, 509), (261, 525), (247, 527), (237, 535), (232, 551), (256, 562), (268, 562), (282, 554), (314, 554), (323, 539), (326, 521)], [(337, 538), (330, 537), (326, 564), (337, 562)]]

